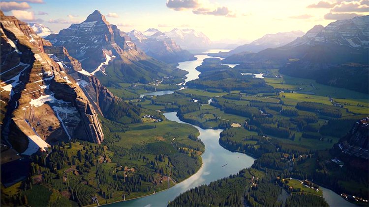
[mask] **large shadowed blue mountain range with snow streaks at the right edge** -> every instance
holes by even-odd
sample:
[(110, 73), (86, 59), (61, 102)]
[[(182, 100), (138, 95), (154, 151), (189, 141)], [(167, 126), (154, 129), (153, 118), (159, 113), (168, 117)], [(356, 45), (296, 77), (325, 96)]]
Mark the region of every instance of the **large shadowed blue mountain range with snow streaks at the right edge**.
[(285, 46), (233, 54), (236, 68), (279, 68), (286, 75), (368, 93), (369, 16), (314, 26)]

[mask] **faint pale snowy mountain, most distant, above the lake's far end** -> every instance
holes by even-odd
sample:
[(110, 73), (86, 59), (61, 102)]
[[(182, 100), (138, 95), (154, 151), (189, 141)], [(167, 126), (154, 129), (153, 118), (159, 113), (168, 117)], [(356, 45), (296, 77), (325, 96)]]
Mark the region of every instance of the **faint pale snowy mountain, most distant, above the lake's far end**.
[(164, 34), (186, 50), (209, 49), (212, 44), (212, 41), (204, 33), (193, 29), (174, 28), (169, 32), (164, 32)]

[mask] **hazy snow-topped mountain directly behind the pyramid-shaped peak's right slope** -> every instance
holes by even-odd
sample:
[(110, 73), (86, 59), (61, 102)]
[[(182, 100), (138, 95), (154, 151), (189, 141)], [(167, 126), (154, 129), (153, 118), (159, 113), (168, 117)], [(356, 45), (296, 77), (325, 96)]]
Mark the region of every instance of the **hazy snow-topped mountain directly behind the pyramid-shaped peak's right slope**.
[(155, 28), (149, 28), (145, 32), (132, 30), (127, 34), (139, 49), (158, 60), (175, 63), (196, 59), (191, 53), (181, 49), (170, 37)]

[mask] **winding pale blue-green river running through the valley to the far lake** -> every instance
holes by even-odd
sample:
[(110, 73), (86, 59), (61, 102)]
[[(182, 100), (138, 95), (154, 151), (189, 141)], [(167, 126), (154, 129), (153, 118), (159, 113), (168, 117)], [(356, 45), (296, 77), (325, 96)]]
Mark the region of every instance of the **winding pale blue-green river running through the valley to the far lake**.
[[(227, 50), (216, 50), (215, 52), (219, 51), (227, 52)], [(195, 68), (201, 65), (205, 58), (210, 57), (206, 55), (206, 53), (208, 52), (214, 52), (214, 50), (206, 51), (204, 52), (204, 54), (195, 55), (197, 57), (197, 60), (179, 63), (179, 68), (188, 71), (188, 74), (186, 75), (186, 82), (199, 78), (200, 72), (196, 71)], [(171, 93), (174, 93), (174, 91), (155, 91), (141, 95), (159, 96)], [(188, 124), (181, 121), (177, 117), (177, 112), (164, 113), (164, 116), (167, 120), (175, 121), (182, 124)], [(153, 195), (142, 198), (109, 204), (107, 206), (166, 207), (168, 205), (168, 202), (174, 200), (177, 196), (179, 196), (186, 190), (189, 190), (201, 184), (207, 184), (211, 181), (216, 181), (218, 179), (228, 177), (231, 174), (236, 174), (241, 169), (250, 167), (253, 164), (255, 159), (251, 156), (228, 151), (219, 145), (218, 140), (219, 134), (222, 131), (221, 129), (201, 129), (197, 126), (192, 126), (199, 130), (199, 138), (205, 144), (205, 153), (201, 155), (203, 165), (194, 175), (169, 188), (168, 190), (160, 191)], [(222, 167), (225, 164), (227, 165)], [(341, 198), (335, 192), (323, 187), (321, 187), (321, 189), (323, 190), (323, 197), (326, 199), (330, 206), (354, 206), (353, 204)]]

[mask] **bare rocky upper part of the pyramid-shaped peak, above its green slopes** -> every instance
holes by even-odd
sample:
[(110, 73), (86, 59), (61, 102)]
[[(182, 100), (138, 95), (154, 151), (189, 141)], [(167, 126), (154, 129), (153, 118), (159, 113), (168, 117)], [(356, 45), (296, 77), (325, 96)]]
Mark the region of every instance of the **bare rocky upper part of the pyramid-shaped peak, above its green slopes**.
[[(71, 38), (73, 37), (73, 38)], [(117, 26), (109, 24), (98, 10), (80, 24), (72, 24), (59, 34), (46, 37), (54, 46), (64, 46), (70, 55), (78, 59), (88, 72), (102, 71), (100, 68), (114, 57), (123, 62), (146, 58), (137, 51), (128, 35)]]

